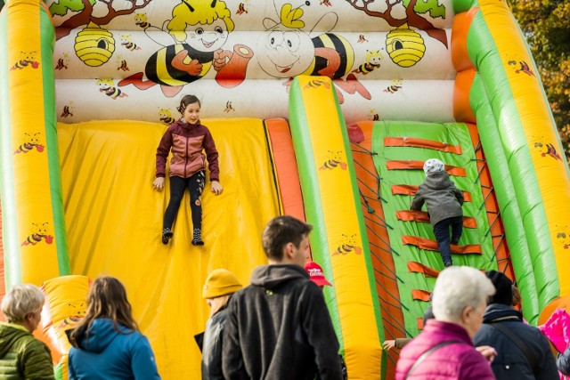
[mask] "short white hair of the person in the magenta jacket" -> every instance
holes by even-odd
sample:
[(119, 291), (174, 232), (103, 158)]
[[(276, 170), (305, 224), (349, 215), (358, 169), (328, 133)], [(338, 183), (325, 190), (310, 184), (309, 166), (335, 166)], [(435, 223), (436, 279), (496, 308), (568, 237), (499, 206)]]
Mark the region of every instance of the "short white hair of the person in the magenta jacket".
[(482, 271), (452, 266), (437, 277), (432, 309), (436, 319), (459, 321), (466, 307), (476, 309), (494, 293), (493, 283)]

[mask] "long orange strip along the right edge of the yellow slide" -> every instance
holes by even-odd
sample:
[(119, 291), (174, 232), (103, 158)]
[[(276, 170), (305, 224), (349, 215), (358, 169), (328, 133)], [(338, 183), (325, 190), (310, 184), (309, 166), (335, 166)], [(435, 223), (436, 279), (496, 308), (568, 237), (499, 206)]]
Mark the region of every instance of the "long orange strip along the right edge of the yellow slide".
[(281, 191), (283, 213), (305, 221), (305, 207), (289, 124), (283, 118), (270, 118), (265, 120), (265, 126), (273, 150), (273, 163)]

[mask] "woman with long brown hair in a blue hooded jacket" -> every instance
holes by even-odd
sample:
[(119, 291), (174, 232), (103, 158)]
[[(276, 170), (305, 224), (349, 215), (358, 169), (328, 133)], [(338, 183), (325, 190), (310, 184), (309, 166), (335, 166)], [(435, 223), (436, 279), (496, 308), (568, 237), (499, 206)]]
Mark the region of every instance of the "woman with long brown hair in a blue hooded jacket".
[(69, 335), (69, 379), (159, 379), (151, 344), (133, 319), (118, 279), (100, 277), (87, 296), (85, 317)]

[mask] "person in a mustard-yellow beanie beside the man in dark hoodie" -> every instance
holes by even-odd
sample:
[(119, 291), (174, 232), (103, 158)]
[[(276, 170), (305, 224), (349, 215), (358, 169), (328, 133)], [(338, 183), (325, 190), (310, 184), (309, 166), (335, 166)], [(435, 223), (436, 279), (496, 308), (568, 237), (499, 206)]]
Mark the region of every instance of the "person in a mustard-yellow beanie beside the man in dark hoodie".
[(202, 379), (224, 379), (222, 374), (222, 336), (227, 304), (232, 295), (240, 290), (240, 281), (224, 269), (211, 271), (202, 290), (202, 298), (210, 307), (210, 318), (202, 342)]

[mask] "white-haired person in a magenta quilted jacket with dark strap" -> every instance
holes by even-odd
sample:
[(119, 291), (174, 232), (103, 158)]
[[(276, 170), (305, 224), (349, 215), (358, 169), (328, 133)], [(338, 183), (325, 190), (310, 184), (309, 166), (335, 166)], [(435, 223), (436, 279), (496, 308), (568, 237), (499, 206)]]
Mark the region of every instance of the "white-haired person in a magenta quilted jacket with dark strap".
[[(436, 319), (400, 353), (395, 378), (494, 379), (487, 350), (476, 350), (472, 338), (483, 323), (487, 297), (495, 289), (481, 271), (455, 266), (441, 271), (433, 292)], [(489, 359), (485, 359), (485, 356)]]

